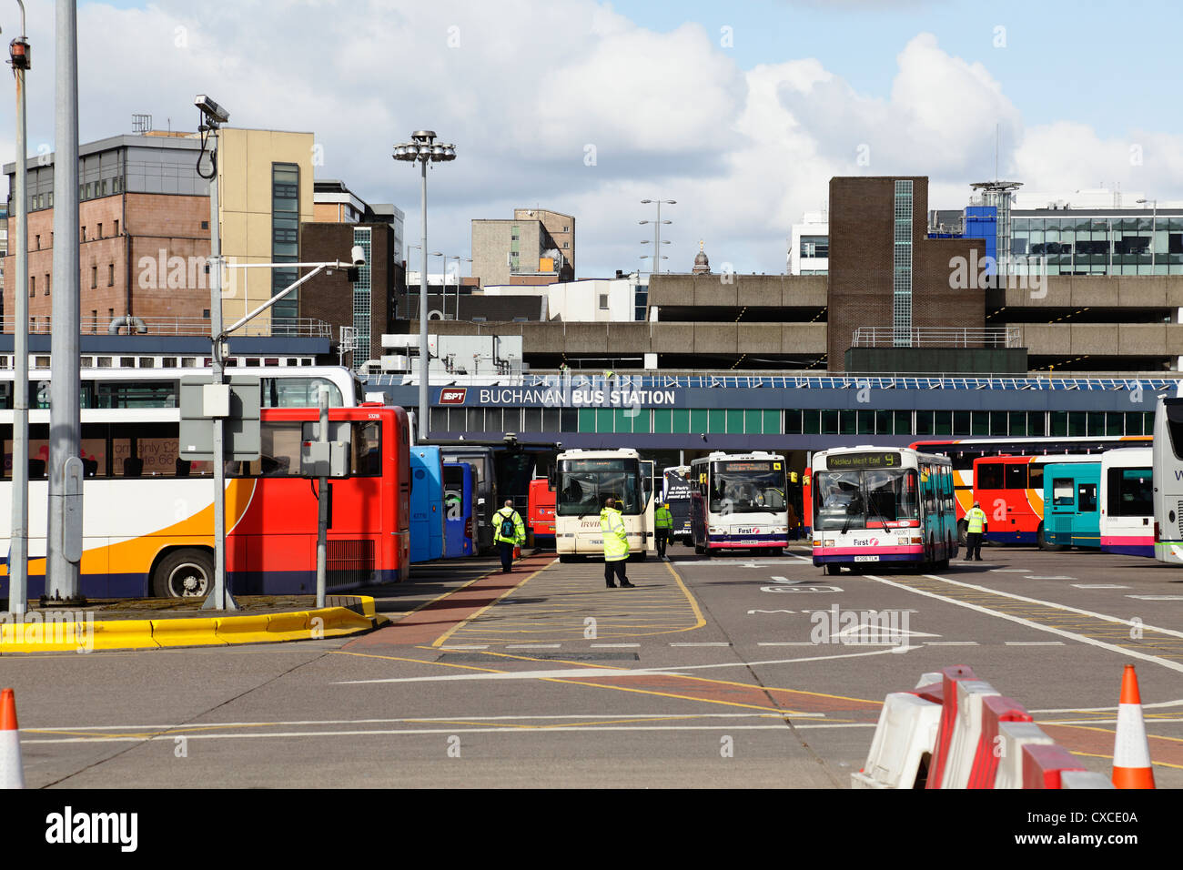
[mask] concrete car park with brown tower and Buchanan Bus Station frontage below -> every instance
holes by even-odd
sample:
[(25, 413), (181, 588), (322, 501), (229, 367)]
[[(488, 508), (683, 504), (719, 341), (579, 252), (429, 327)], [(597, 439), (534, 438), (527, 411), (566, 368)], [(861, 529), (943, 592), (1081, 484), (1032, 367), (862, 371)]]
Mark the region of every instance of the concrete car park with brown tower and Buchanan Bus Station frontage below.
[[(834, 179), (828, 275), (655, 275), (640, 322), (434, 321), (439, 335), (521, 336), (526, 368), (433, 374), (431, 432), (776, 450), (797, 468), (807, 451), (872, 440), (1150, 434), (1156, 395), (1179, 376), (1183, 275), (982, 285), (967, 270), (984, 239), (927, 238), (926, 188), (924, 176)], [(958, 285), (959, 268), (972, 285)], [(370, 385), (415, 401), (406, 376)]]

